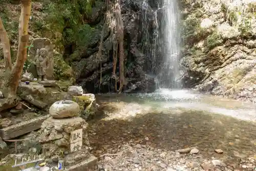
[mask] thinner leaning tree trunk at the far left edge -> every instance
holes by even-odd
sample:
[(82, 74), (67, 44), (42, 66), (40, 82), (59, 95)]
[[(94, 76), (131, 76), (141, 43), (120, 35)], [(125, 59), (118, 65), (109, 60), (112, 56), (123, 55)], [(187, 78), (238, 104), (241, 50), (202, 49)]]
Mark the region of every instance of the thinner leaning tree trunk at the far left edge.
[(4, 58), (5, 58), (5, 70), (12, 70), (12, 59), (11, 59), (11, 46), (10, 40), (3, 25), (2, 18), (0, 16), (0, 40), (2, 41)]

